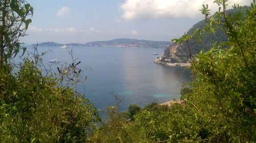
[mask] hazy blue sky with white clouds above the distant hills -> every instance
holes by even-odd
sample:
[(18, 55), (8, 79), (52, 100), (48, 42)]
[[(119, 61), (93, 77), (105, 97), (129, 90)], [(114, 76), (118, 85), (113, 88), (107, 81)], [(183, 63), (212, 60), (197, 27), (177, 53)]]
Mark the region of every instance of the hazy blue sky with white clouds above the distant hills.
[[(26, 44), (106, 41), (116, 38), (170, 41), (204, 19), (199, 9), (213, 0), (27, 0), (34, 8), (22, 38)], [(230, 0), (249, 5), (250, 0)]]

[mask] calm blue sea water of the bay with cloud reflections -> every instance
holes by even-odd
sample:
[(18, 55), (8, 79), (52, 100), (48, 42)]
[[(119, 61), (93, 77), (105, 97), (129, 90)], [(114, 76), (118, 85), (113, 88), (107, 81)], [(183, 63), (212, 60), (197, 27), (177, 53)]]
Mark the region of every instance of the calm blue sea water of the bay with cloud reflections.
[[(30, 47), (31, 48), (31, 47)], [(28, 50), (31, 50), (28, 48)], [(98, 109), (115, 105), (114, 95), (121, 98), (120, 110), (130, 104), (145, 106), (152, 102), (164, 102), (180, 98), (183, 82), (190, 80), (189, 70), (184, 67), (169, 67), (155, 64), (164, 49), (127, 47), (60, 47), (39, 46), (38, 50), (49, 51), (43, 59), (58, 59), (52, 64), (53, 71), (61, 64), (71, 63), (69, 50), (81, 61), (79, 68), (88, 76), (85, 86), (79, 84), (77, 91), (85, 94)], [(153, 55), (153, 53), (159, 55)], [(185, 70), (185, 72), (183, 72)], [(181, 74), (183, 72), (183, 74)], [(84, 89), (85, 87), (85, 89)]]

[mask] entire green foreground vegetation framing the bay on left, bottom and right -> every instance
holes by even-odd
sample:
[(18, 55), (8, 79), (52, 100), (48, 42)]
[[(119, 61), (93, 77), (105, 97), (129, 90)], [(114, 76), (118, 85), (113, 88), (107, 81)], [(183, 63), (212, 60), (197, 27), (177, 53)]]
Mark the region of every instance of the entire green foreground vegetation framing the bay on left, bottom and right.
[[(204, 28), (174, 39), (182, 43), (215, 32), (217, 25), (227, 35), (227, 42), (214, 42), (197, 59), (191, 58), (193, 81), (181, 90), (184, 104), (131, 105), (121, 113), (117, 98), (103, 123), (92, 103), (75, 92), (81, 62), (72, 52), (73, 62), (58, 67), (58, 76), (44, 69), (36, 47), (32, 60), (13, 65), (11, 59), (26, 50), (17, 31), (25, 36), (33, 8), (25, 1), (0, 1), (0, 142), (255, 142), (255, 0), (245, 13), (230, 14), (226, 1), (215, 2), (221, 6), (215, 17), (208, 17), (207, 5), (201, 10)], [(9, 28), (12, 23), (23, 26)]]

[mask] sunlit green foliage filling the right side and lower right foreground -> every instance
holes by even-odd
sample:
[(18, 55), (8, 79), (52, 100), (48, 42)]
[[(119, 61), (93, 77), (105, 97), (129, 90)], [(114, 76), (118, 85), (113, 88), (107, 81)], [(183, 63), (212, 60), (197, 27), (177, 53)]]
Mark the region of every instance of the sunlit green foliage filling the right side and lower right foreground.
[[(228, 41), (212, 43), (209, 51), (201, 51), (191, 63), (195, 78), (181, 91), (185, 106), (154, 110), (157, 104), (152, 103), (137, 112), (134, 121), (111, 118), (112, 123), (120, 123), (109, 126), (115, 134), (105, 137), (98, 132), (94, 137), (104, 138), (102, 142), (255, 142), (256, 4), (253, 1), (250, 8), (234, 5), (234, 12), (226, 13), (226, 1), (215, 3), (220, 10), (215, 17), (206, 17), (206, 26), (195, 35), (221, 27)], [(210, 14), (207, 6), (202, 12)]]

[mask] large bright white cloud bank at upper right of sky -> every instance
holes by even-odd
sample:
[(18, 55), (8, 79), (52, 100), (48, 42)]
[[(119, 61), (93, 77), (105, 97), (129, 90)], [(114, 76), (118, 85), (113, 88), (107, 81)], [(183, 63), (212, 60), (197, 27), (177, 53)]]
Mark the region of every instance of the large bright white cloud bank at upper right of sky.
[[(234, 3), (249, 5), (248, 0), (230, 0), (229, 8)], [(201, 13), (202, 4), (209, 5), (209, 9), (217, 10), (218, 5), (212, 0), (126, 0), (120, 7), (125, 20), (152, 18), (181, 18), (197, 17)]]

